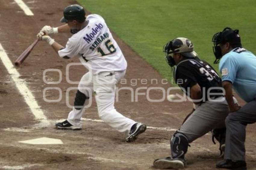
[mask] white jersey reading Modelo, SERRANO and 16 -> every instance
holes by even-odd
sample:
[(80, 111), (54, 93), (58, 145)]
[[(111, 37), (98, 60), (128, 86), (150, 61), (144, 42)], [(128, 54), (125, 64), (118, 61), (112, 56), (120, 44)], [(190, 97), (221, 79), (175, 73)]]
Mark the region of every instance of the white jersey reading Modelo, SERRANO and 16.
[(86, 20), (88, 25), (68, 39), (66, 47), (58, 51), (59, 56), (79, 55), (93, 73), (126, 70), (127, 62), (105, 20), (97, 14), (88, 15)]

